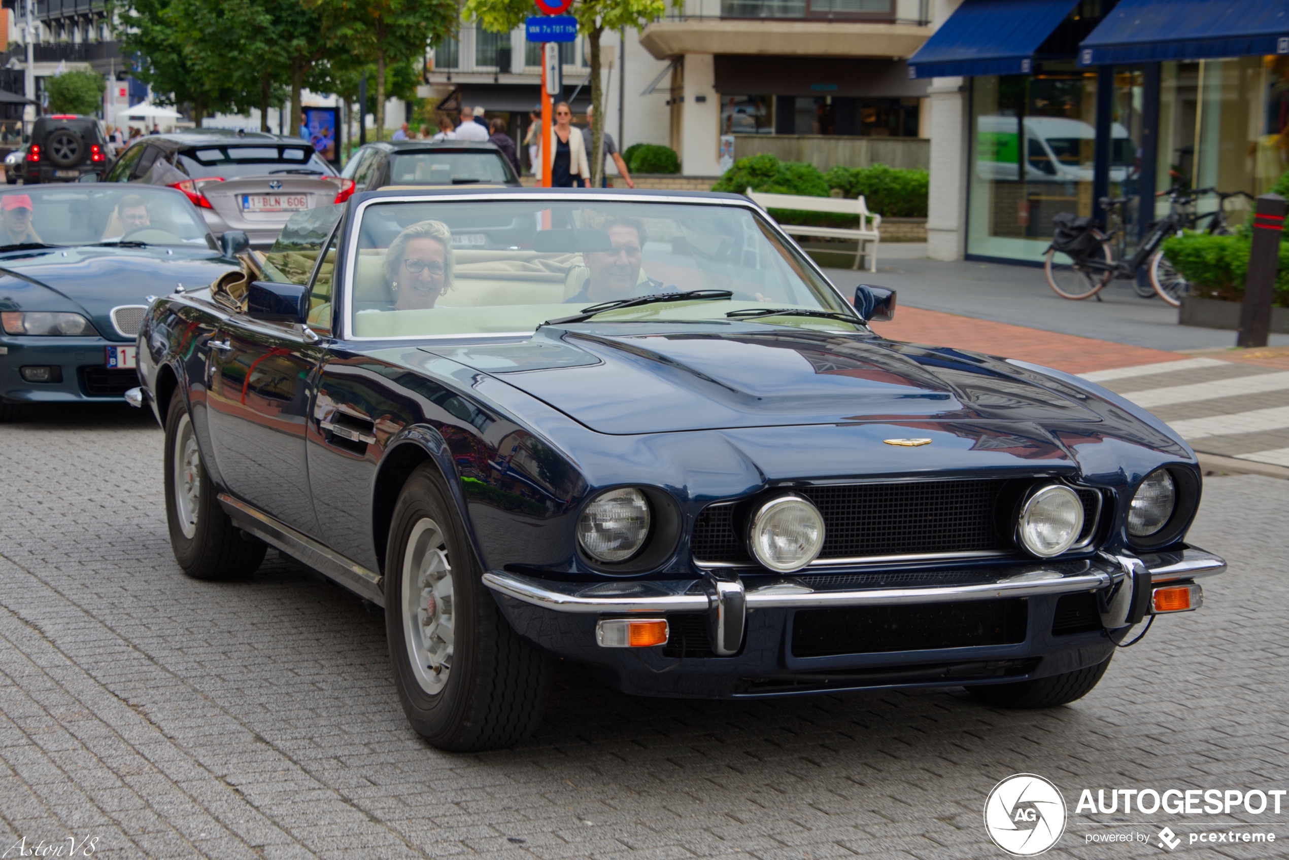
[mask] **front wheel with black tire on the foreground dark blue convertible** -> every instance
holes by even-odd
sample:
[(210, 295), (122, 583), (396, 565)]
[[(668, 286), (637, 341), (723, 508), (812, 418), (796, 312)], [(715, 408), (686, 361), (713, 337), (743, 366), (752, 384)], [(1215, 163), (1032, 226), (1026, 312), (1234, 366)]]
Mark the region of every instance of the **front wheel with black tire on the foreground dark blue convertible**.
[(385, 637), (403, 713), (434, 747), (510, 747), (540, 725), (550, 660), (503, 618), (432, 463), (411, 474), (394, 506)]

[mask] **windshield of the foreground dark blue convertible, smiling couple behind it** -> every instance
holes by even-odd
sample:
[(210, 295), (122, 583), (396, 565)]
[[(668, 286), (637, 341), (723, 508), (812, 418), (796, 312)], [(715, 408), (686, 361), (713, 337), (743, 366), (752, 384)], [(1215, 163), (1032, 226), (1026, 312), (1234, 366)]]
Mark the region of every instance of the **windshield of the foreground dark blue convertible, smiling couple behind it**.
[[(718, 292), (607, 309), (594, 322), (744, 324), (740, 315), (763, 310), (853, 318), (799, 251), (735, 206), (375, 202), (357, 237), (347, 309), (357, 337), (531, 332), (597, 304), (697, 290)], [(755, 322), (860, 328), (799, 314)]]

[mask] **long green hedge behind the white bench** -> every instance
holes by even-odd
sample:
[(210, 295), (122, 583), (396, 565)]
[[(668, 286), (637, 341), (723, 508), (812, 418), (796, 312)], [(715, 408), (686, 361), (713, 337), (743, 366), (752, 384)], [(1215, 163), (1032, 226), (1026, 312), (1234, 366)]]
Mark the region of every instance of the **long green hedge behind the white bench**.
[[(741, 194), (751, 188), (771, 194), (828, 197), (830, 189), (839, 188), (852, 200), (862, 194), (869, 211), (883, 218), (926, 218), (929, 179), (926, 170), (897, 170), (886, 165), (837, 166), (825, 174), (815, 165), (780, 161), (763, 152), (736, 161), (712, 191)], [(843, 215), (791, 210), (772, 209), (770, 214), (777, 221), (820, 227), (853, 227), (857, 220)]]

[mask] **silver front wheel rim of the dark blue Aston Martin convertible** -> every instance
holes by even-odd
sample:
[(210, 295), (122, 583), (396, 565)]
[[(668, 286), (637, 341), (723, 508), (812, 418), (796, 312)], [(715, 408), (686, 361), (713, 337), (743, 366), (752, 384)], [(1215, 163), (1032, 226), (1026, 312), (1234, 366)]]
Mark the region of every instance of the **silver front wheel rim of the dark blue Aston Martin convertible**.
[(420, 689), (441, 693), (452, 671), (452, 565), (438, 523), (419, 520), (403, 552), (402, 618), (407, 659)]

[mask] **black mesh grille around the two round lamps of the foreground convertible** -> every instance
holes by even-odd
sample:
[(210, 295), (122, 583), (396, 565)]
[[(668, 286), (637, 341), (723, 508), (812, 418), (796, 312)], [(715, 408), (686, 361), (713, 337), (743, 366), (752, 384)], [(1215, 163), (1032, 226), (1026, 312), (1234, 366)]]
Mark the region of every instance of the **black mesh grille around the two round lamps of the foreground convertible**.
[[(1012, 536), (999, 530), (996, 509), (1005, 480), (941, 480), (897, 484), (806, 487), (824, 515), (820, 561), (898, 555), (974, 555), (1014, 548)], [(1089, 541), (1097, 528), (1101, 494), (1074, 488), (1083, 500), (1084, 530)], [(699, 563), (753, 564), (745, 527), (736, 503), (719, 503), (699, 514), (692, 552)]]

